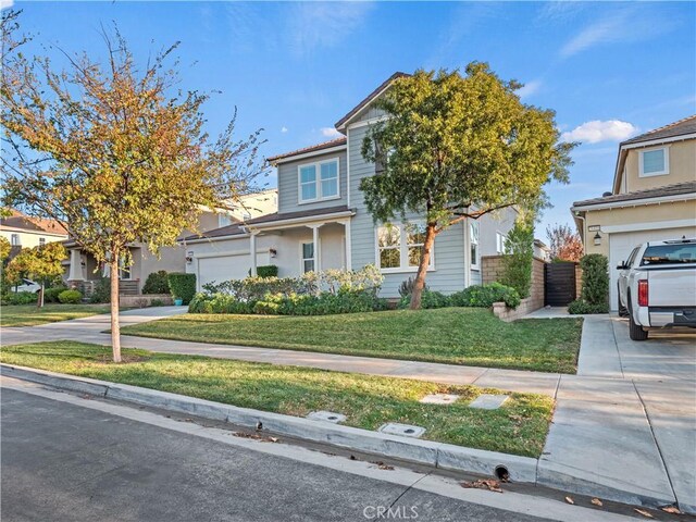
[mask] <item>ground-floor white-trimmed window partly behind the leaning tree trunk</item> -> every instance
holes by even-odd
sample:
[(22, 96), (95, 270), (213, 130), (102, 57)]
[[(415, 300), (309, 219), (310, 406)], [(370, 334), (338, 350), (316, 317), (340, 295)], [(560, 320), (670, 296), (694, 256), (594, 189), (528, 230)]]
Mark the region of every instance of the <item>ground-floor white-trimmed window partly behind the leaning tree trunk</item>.
[[(425, 223), (387, 223), (377, 227), (377, 262), (381, 270), (418, 270), (425, 244)], [(430, 268), (433, 268), (431, 252)]]

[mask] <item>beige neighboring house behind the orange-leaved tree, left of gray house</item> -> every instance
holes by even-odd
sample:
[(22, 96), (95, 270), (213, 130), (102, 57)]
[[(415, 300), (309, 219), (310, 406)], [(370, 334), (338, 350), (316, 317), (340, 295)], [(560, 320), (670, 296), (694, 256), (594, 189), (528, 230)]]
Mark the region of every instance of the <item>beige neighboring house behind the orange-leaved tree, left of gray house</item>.
[[(261, 216), (264, 213), (275, 212), (277, 209), (277, 192), (275, 189), (264, 190), (241, 196), (234, 202), (224, 202), (222, 208), (206, 209), (198, 219), (195, 229), (206, 233), (220, 227), (243, 223), (251, 216)], [(184, 231), (179, 237), (189, 236), (191, 231)], [(64, 236), (65, 237), (65, 236)], [(65, 241), (70, 258), (63, 263), (65, 268), (64, 278), (69, 285), (79, 288), (84, 294), (91, 294), (98, 279), (110, 275), (109, 266), (98, 263), (88, 252), (83, 251), (72, 239)], [(135, 243), (129, 245), (130, 265), (123, 265), (119, 271), (121, 279), (121, 294), (138, 295), (142, 291), (142, 285), (152, 272), (164, 270), (166, 272), (186, 271), (186, 247), (179, 243), (174, 247), (160, 249), (159, 257), (150, 251), (147, 245)]]

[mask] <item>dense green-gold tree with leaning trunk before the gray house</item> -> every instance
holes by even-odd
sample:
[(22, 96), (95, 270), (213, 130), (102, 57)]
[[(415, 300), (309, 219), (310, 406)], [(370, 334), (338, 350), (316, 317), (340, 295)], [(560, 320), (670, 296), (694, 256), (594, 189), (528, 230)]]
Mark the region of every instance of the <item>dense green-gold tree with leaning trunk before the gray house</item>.
[(569, 152), (554, 112), (525, 105), (517, 82), (486, 64), (394, 80), (377, 100), (387, 119), (368, 130), (362, 156), (376, 165), (360, 183), (375, 222), (425, 215), (411, 308), (420, 308), (435, 236), (467, 219), (511, 206), (538, 209), (543, 185), (568, 181)]

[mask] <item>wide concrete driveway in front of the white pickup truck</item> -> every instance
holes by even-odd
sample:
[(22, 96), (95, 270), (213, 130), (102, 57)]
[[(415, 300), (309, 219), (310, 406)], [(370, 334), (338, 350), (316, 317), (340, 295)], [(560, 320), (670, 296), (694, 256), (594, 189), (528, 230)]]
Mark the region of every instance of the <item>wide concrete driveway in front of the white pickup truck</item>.
[(696, 512), (696, 336), (638, 343), (625, 320), (585, 318), (577, 375), (560, 380), (544, 453), (542, 483), (591, 494), (601, 484), (631, 504)]

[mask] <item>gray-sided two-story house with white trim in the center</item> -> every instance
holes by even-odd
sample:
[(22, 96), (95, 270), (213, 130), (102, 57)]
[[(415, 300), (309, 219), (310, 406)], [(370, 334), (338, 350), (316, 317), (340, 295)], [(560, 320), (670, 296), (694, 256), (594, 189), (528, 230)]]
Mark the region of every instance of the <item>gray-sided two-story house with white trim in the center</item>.
[[(274, 264), (278, 276), (375, 264), (385, 276), (382, 295), (415, 275), (423, 220), (375, 223), (360, 181), (375, 174), (360, 152), (369, 126), (384, 117), (373, 101), (401, 76), (393, 75), (336, 123), (343, 136), (269, 158), (277, 169), (277, 212), (185, 238), (188, 272), (199, 289), (212, 282), (244, 278)], [(501, 252), (514, 224), (513, 209), (465, 220), (435, 239), (427, 274), (433, 290), (453, 293), (482, 282), (482, 257)]]

